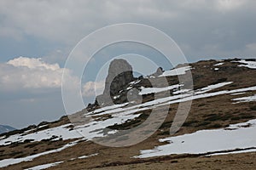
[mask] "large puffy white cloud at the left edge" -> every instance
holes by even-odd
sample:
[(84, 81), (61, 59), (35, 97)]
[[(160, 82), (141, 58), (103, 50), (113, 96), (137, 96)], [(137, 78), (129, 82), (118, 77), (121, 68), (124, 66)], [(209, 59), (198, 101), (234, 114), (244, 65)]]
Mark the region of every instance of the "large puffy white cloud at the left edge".
[[(62, 73), (58, 64), (48, 64), (40, 58), (19, 57), (0, 64), (1, 90), (14, 91), (31, 88), (61, 88)], [(77, 77), (68, 81), (79, 82)]]

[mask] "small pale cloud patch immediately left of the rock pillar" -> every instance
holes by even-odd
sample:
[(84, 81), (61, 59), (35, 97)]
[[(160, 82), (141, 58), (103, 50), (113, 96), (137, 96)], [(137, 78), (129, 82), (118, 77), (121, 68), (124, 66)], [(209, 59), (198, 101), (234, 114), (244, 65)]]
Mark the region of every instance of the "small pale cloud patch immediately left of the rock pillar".
[(103, 90), (105, 88), (105, 82), (86, 82), (83, 86), (83, 96), (85, 97), (91, 97), (96, 96), (103, 93)]

